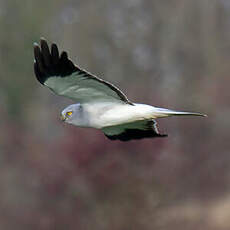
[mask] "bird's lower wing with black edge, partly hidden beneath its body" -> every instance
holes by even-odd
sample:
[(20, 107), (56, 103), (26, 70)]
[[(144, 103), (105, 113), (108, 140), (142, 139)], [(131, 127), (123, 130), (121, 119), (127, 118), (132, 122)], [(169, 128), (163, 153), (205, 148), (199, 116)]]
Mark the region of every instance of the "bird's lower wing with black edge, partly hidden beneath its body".
[(102, 131), (110, 140), (120, 141), (167, 136), (166, 134), (159, 133), (155, 120), (142, 120), (110, 126), (103, 128)]

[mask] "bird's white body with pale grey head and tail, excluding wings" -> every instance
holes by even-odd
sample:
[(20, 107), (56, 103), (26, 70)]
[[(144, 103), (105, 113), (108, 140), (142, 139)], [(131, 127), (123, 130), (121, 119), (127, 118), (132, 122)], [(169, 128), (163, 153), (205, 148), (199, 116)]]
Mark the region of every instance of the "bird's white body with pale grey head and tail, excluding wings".
[(135, 103), (134, 105), (129, 105), (113, 102), (70, 105), (62, 111), (62, 115), (65, 116), (67, 111), (73, 111), (72, 117), (66, 120), (67, 123), (97, 129), (172, 115), (201, 115), (199, 113), (157, 108), (145, 104)]

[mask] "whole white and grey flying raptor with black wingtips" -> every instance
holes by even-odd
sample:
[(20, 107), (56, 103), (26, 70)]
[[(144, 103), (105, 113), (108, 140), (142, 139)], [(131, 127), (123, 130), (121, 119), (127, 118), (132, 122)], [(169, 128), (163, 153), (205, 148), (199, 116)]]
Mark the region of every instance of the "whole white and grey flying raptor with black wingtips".
[(67, 52), (59, 54), (55, 43), (49, 48), (44, 38), (40, 46), (34, 43), (34, 58), (37, 80), (54, 93), (77, 102), (61, 112), (61, 120), (79, 127), (100, 129), (110, 140), (166, 137), (159, 133), (156, 118), (206, 116), (133, 103), (113, 84), (75, 65)]

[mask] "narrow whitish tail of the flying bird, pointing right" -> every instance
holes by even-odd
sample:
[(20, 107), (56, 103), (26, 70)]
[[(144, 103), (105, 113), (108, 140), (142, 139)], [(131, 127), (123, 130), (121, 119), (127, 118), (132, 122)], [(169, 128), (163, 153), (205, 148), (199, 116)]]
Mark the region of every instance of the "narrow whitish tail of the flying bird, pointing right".
[(169, 116), (202, 116), (202, 117), (207, 117), (206, 114), (202, 114), (202, 113), (182, 112), (182, 111), (175, 111), (175, 110), (157, 108), (157, 107), (155, 107), (154, 115), (156, 115), (157, 118), (169, 117)]

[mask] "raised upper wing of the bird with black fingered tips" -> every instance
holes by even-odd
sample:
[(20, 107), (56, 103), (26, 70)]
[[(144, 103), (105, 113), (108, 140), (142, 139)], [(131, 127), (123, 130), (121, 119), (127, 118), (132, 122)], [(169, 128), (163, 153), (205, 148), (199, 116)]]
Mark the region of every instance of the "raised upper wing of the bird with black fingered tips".
[(80, 103), (116, 101), (132, 104), (116, 86), (74, 65), (56, 44), (51, 49), (45, 39), (34, 44), (34, 72), (38, 81), (58, 95)]

